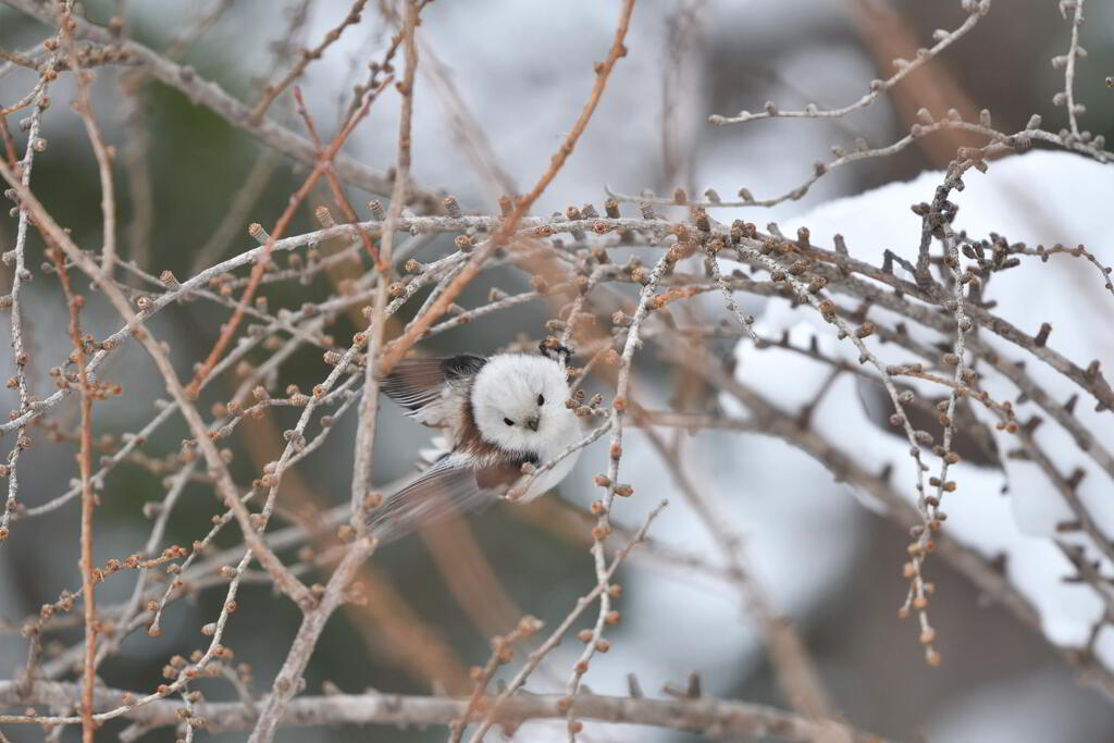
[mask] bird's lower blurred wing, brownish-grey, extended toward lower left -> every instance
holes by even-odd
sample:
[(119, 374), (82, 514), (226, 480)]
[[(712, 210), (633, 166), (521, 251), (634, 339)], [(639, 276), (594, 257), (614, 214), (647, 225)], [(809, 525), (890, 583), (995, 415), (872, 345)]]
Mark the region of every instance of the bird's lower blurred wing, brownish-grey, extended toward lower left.
[(442, 457), (375, 509), (371, 535), (380, 542), (393, 541), (450, 516), (490, 506), (519, 475), (519, 461), (505, 460), (477, 468), (473, 460), (453, 454)]

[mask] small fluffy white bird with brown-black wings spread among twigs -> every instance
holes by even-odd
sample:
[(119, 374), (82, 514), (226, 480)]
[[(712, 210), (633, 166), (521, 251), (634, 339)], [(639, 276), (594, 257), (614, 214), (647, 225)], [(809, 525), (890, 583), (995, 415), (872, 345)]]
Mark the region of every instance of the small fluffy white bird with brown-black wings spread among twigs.
[[(434, 440), (439, 450), (427, 457), (428, 469), (374, 511), (373, 536), (390, 541), (494, 504), (522, 475), (524, 465), (545, 465), (580, 440), (580, 421), (565, 404), (569, 351), (541, 349), (544, 355), (408, 359), (382, 381), (380, 389), (411, 418), (444, 433)], [(521, 500), (565, 479), (578, 456), (543, 472)]]

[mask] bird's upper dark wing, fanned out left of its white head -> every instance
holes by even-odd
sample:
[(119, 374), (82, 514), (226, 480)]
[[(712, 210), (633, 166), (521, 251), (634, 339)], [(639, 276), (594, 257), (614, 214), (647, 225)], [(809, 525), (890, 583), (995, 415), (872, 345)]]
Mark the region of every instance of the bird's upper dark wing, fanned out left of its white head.
[(455, 389), (467, 388), (468, 380), (483, 368), (487, 359), (463, 353), (442, 359), (407, 359), (387, 375), (380, 389), (426, 426), (442, 428), (451, 422)]

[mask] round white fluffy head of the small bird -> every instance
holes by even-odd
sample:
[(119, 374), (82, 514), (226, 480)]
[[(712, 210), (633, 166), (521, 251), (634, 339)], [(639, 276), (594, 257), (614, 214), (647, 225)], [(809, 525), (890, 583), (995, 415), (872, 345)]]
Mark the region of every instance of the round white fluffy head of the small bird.
[(577, 430), (565, 407), (568, 383), (560, 364), (546, 356), (502, 353), (476, 375), (471, 402), (485, 440), (507, 451), (553, 456)]

